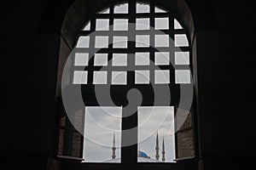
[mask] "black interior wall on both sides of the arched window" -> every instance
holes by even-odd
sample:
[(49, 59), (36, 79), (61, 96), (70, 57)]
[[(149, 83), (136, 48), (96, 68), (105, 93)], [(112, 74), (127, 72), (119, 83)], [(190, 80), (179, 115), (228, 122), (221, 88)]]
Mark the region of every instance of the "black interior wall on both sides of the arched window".
[[(55, 125), (61, 23), (71, 3), (41, 0), (3, 4), (0, 155), (1, 164), (9, 169), (47, 167)], [(197, 36), (204, 167), (254, 169), (253, 4), (213, 0), (187, 3)]]

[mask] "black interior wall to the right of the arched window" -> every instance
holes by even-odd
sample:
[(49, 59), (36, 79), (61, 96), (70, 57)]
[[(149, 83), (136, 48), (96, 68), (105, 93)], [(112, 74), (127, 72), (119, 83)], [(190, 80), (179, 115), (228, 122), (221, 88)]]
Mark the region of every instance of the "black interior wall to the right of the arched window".
[(197, 31), (201, 154), (206, 169), (253, 169), (253, 5), (209, 4), (215, 28)]

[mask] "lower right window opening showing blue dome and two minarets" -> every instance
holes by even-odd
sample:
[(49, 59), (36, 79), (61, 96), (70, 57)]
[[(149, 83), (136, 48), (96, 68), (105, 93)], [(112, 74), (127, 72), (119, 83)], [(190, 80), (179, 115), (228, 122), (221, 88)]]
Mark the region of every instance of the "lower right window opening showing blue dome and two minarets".
[(139, 107), (137, 161), (175, 162), (174, 132), (172, 106)]

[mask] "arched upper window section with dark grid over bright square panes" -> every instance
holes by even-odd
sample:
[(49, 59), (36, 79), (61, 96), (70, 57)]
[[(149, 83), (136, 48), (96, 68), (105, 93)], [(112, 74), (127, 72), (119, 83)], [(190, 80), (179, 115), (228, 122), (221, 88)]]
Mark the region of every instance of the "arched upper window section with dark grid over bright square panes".
[(111, 5), (80, 31), (73, 84), (189, 84), (189, 49), (168, 11), (147, 3), (133, 10), (128, 3)]

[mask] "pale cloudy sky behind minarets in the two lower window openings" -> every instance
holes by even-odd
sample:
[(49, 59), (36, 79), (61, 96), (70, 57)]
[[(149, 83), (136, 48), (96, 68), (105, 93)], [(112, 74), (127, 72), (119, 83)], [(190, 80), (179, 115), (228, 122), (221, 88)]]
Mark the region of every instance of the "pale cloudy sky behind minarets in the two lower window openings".
[[(121, 107), (86, 107), (83, 158), (86, 162), (102, 162), (111, 159), (113, 132), (115, 133), (116, 158), (120, 157)], [(172, 161), (175, 153), (173, 107), (140, 107), (138, 109), (138, 138), (142, 151), (155, 159), (156, 131), (159, 133), (160, 159), (162, 139), (165, 138), (166, 161)]]

